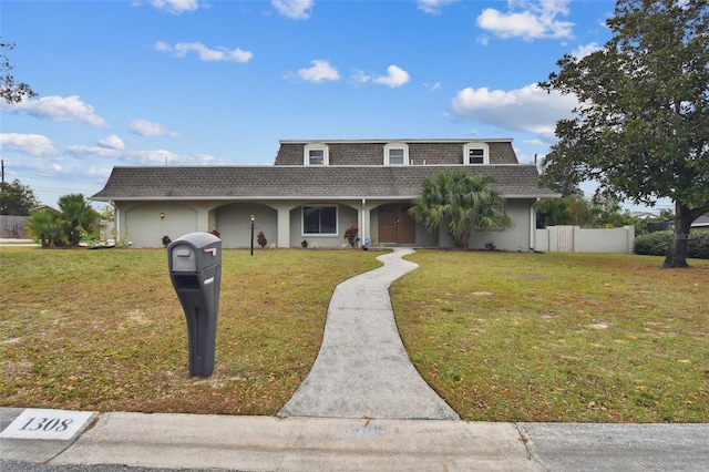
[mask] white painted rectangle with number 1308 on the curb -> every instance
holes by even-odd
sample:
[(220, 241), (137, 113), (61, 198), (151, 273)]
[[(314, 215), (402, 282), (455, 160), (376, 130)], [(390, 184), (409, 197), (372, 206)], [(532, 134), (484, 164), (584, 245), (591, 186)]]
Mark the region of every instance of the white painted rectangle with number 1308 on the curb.
[(71, 440), (83, 431), (95, 413), (27, 409), (6, 428), (0, 438)]

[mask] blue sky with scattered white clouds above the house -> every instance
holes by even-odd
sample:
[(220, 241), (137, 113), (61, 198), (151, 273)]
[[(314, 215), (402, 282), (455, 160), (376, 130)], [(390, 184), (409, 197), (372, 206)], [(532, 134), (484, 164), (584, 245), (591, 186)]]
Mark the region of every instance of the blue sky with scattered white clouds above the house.
[[(575, 99), (536, 83), (609, 38), (607, 0), (0, 0), (16, 81), (6, 182), (42, 204), (114, 166), (269, 165), (279, 140), (556, 142)], [(588, 192), (590, 189), (586, 188)]]

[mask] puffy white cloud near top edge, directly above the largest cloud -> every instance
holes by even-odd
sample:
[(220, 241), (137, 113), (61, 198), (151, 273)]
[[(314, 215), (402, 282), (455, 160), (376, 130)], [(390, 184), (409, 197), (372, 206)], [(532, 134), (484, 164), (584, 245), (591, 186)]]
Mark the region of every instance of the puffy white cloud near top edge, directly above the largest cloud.
[(557, 19), (568, 16), (568, 0), (508, 0), (507, 12), (486, 8), (477, 17), (477, 25), (500, 38), (572, 38), (574, 23)]

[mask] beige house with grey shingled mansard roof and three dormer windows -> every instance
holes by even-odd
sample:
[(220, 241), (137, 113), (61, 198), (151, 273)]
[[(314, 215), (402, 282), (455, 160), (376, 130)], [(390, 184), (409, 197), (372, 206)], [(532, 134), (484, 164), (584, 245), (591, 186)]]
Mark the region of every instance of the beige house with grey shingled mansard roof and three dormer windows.
[(452, 247), (441, 229), (429, 233), (408, 209), (427, 178), (444, 168), (494, 177), (514, 227), (473, 232), (471, 248), (534, 247), (535, 205), (558, 195), (537, 184), (533, 164), (520, 164), (512, 140), (280, 141), (274, 165), (114, 167), (92, 197), (115, 207), (119, 238), (158, 247), (191, 232), (219, 232), (224, 247), (268, 245), (341, 247), (359, 226), (373, 246)]

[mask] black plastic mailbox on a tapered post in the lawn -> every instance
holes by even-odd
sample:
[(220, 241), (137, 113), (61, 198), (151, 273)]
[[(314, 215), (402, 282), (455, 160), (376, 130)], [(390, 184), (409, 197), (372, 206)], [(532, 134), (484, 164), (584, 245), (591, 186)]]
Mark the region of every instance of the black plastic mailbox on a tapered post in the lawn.
[(189, 233), (167, 247), (169, 277), (187, 318), (189, 374), (214, 371), (217, 311), (222, 285), (222, 239)]

